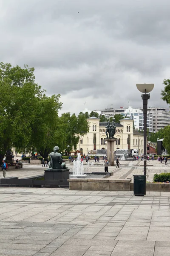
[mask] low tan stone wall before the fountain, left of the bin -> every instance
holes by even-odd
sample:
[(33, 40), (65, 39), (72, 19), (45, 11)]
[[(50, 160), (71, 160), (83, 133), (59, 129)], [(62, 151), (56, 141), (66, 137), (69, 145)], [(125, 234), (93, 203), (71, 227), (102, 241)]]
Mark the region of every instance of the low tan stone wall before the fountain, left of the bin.
[(70, 190), (130, 191), (131, 180), (68, 179)]

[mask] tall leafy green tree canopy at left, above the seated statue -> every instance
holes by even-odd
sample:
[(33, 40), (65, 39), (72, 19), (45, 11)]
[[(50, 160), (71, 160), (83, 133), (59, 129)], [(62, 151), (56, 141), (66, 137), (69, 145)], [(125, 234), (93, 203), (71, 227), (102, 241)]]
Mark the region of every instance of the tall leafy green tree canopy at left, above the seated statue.
[[(58, 96), (45, 96), (35, 83), (34, 68), (0, 63), (0, 162), (6, 151), (37, 149), (47, 156), (62, 138)], [(62, 143), (61, 143), (62, 144)]]

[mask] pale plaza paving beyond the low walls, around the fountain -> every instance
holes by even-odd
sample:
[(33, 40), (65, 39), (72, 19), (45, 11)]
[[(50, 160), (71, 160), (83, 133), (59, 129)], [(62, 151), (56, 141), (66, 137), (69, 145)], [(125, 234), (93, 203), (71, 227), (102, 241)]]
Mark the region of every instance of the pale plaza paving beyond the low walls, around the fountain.
[[(90, 164), (94, 163), (94, 160), (91, 160)], [(84, 161), (84, 172), (104, 172), (104, 161), (99, 160), (99, 163), (94, 163), (94, 165), (87, 166)], [(116, 168), (115, 166), (109, 166), (109, 172), (113, 172), (113, 176), (109, 177), (109, 179), (127, 179), (131, 178), (133, 181), (133, 175), (141, 175), (143, 174), (143, 161), (120, 161), (120, 168)], [(66, 163), (70, 171), (73, 169), (73, 163)], [(16, 176), (19, 178), (32, 177), (35, 175), (43, 175), (44, 169), (46, 167), (42, 167), (42, 165), (33, 165), (33, 164), (23, 164), (23, 169), (14, 169), (6, 172), (6, 177)], [(168, 165), (165, 166), (165, 163), (160, 163), (157, 160), (147, 161), (147, 181), (153, 180), (153, 175), (155, 173), (161, 172), (170, 172), (170, 164), (168, 161)], [(2, 172), (0, 173), (0, 177), (2, 177)]]

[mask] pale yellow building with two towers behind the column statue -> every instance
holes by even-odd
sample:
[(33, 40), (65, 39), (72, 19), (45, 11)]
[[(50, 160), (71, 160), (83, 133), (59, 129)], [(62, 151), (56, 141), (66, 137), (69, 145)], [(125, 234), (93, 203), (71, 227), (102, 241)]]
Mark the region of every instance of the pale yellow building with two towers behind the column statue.
[[(90, 150), (106, 149), (106, 125), (107, 122), (99, 122), (99, 118), (90, 117), (87, 121), (90, 123), (89, 132), (82, 136), (77, 145), (77, 149), (82, 154), (88, 154)], [(120, 120), (120, 124), (116, 123), (117, 144), (115, 148), (120, 149), (138, 149), (139, 156), (144, 151), (144, 136), (138, 131), (133, 131), (133, 120), (124, 118)]]

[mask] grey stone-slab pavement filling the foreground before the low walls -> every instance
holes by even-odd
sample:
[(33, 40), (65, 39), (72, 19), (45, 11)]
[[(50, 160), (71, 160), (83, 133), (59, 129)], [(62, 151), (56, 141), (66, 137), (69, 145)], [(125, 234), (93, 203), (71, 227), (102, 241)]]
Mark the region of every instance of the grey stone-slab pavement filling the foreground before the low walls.
[(170, 254), (170, 192), (0, 188), (0, 256)]

